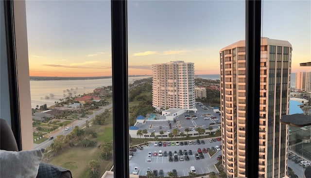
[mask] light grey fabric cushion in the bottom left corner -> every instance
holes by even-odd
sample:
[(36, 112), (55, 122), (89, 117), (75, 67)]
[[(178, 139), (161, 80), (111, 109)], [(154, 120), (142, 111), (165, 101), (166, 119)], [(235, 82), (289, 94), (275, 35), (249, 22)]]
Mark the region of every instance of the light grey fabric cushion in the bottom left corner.
[(0, 178), (35, 178), (44, 149), (28, 151), (0, 150)]

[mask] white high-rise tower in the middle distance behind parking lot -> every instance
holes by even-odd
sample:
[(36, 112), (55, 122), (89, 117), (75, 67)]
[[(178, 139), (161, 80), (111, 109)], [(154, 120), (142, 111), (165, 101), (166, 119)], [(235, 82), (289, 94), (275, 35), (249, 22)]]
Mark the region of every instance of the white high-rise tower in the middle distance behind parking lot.
[(172, 61), (153, 64), (152, 106), (156, 110), (182, 108), (196, 110), (194, 63)]

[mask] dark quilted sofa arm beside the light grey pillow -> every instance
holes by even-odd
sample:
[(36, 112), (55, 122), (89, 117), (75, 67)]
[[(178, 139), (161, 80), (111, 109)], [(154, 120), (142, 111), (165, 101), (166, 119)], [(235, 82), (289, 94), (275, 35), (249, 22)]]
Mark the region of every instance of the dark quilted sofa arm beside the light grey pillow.
[(36, 178), (72, 178), (72, 176), (68, 169), (41, 162)]

